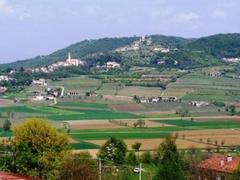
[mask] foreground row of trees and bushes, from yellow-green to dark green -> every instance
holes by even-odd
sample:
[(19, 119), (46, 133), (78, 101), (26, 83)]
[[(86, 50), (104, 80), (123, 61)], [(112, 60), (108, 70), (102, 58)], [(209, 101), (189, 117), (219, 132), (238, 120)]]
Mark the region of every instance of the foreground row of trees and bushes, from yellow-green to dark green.
[(13, 128), (13, 134), (13, 139), (0, 145), (0, 171), (41, 179), (131, 179), (133, 167), (143, 163), (157, 169), (150, 172), (153, 179), (185, 180), (194, 177), (196, 164), (203, 159), (194, 148), (179, 152), (172, 136), (166, 137), (154, 153), (142, 154), (141, 143), (133, 144), (134, 151), (129, 152), (124, 141), (111, 137), (101, 146), (97, 161), (88, 152), (73, 154), (68, 136), (44, 119), (29, 119)]

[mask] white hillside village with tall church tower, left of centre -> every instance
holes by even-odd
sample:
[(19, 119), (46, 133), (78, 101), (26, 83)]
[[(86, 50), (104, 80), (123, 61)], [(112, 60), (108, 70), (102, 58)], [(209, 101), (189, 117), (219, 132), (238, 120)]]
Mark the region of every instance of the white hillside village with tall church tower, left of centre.
[(80, 59), (72, 59), (71, 54), (68, 54), (68, 59), (65, 61), (59, 61), (57, 63), (51, 64), (47, 67), (41, 67), (41, 68), (35, 68), (35, 69), (29, 69), (32, 73), (34, 72), (43, 72), (43, 73), (49, 73), (53, 72), (54, 70), (57, 70), (61, 67), (71, 67), (71, 66), (83, 66), (85, 64), (85, 61), (82, 61)]

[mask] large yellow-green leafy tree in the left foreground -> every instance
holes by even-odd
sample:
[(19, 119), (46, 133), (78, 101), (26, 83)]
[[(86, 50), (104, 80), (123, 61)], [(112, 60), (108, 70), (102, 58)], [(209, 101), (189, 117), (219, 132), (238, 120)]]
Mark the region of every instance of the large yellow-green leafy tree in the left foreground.
[(13, 130), (14, 163), (18, 173), (56, 179), (61, 160), (69, 149), (68, 137), (46, 120), (28, 119)]

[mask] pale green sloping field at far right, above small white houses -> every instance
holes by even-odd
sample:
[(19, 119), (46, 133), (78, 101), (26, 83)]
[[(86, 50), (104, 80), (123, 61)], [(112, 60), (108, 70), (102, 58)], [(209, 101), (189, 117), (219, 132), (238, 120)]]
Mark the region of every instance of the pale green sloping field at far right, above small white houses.
[(181, 92), (187, 89), (186, 95), (182, 98), (185, 101), (236, 102), (240, 99), (240, 79), (188, 74), (169, 84), (168, 88), (175, 89), (176, 95), (178, 90)]

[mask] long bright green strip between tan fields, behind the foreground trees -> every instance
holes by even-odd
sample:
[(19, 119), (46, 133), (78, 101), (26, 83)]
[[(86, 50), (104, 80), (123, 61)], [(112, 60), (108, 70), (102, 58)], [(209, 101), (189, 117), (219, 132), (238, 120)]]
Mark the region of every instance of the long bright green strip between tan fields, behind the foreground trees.
[(117, 137), (120, 139), (157, 139), (164, 138), (176, 131), (240, 128), (240, 122), (236, 121), (192, 122), (189, 120), (159, 120), (154, 122), (165, 123), (174, 126), (116, 130), (73, 130), (70, 134), (76, 140), (106, 140), (110, 137)]

